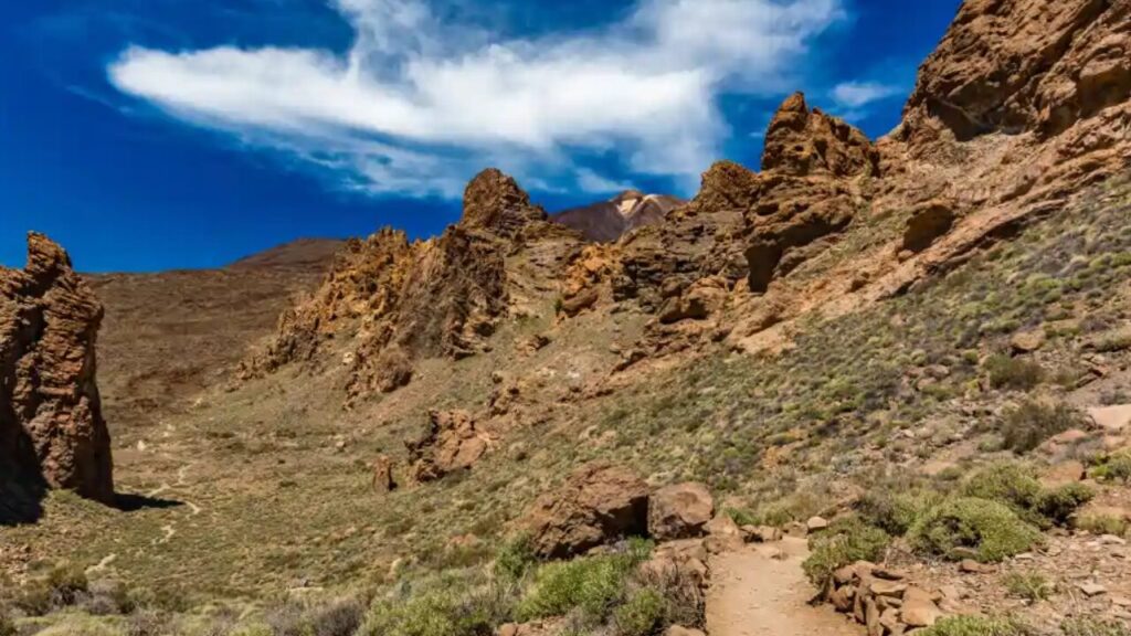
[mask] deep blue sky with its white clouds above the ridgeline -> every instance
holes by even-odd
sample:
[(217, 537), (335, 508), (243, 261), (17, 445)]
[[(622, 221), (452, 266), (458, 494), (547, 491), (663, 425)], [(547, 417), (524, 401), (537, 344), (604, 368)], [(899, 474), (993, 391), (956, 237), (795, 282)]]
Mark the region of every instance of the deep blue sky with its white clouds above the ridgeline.
[(959, 0), (37, 0), (0, 9), (0, 264), (413, 237), (497, 165), (549, 209), (758, 166), (795, 89), (890, 130)]

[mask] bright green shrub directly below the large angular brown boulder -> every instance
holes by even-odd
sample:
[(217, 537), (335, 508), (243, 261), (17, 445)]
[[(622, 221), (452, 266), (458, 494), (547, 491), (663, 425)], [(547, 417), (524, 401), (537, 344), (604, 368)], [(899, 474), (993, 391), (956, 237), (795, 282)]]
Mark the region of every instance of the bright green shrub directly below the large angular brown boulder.
[(638, 564), (630, 555), (546, 564), (519, 601), (518, 619), (526, 622), (578, 610), (588, 624), (597, 625), (622, 598), (628, 575)]

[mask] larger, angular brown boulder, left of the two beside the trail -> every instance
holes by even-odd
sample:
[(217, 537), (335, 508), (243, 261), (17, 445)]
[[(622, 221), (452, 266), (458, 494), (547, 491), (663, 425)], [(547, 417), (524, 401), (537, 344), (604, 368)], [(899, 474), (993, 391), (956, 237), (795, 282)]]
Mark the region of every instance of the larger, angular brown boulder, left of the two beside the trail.
[(581, 467), (539, 497), (521, 525), (535, 552), (561, 559), (648, 531), (648, 484), (608, 464)]

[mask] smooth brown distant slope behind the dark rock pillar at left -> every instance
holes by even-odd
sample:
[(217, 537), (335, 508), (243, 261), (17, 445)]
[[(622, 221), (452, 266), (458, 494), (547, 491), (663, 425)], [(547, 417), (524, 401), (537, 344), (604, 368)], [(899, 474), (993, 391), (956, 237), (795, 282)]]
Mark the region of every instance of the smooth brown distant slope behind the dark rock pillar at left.
[(106, 307), (98, 379), (111, 426), (132, 437), (227, 381), (342, 246), (300, 240), (219, 269), (84, 276)]

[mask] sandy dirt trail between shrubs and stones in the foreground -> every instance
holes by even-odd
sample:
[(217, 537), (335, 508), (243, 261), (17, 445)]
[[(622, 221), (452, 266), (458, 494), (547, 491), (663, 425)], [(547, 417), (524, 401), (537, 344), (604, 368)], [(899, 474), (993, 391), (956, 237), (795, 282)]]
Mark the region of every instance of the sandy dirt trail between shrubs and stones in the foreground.
[(748, 545), (711, 558), (707, 595), (710, 636), (862, 636), (864, 629), (829, 607), (812, 607), (801, 562), (804, 539)]

